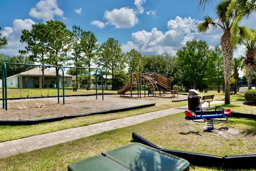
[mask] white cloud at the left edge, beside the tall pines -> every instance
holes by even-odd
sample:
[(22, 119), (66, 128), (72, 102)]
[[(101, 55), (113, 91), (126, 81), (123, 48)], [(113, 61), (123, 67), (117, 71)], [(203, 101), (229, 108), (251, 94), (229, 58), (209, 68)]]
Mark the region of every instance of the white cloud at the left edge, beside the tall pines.
[(24, 44), (20, 42), (20, 36), (22, 35), (22, 30), (31, 30), (32, 24), (36, 24), (31, 19), (25, 20), (14, 20), (12, 27), (5, 27), (2, 30), (1, 34), (6, 36), (8, 44), (6, 45), (6, 49), (2, 49), (1, 53), (8, 56), (16, 56), (18, 55), (18, 50), (24, 49)]

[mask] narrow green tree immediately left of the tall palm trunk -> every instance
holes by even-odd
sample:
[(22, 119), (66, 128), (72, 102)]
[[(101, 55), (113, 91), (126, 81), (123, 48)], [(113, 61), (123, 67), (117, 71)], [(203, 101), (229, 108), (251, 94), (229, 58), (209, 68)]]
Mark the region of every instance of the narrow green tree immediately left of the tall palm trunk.
[(206, 82), (211, 88), (213, 88), (213, 86), (217, 86), (218, 93), (220, 93), (220, 85), (224, 82), (223, 56), (221, 48), (216, 46), (214, 50), (210, 50), (208, 57)]

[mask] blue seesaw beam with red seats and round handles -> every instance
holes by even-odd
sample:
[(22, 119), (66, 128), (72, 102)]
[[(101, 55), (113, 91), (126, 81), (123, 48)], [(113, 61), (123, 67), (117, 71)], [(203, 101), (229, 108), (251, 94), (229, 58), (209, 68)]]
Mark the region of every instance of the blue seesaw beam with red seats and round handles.
[[(217, 108), (219, 108), (219, 107), (222, 109), (222, 113), (217, 113)], [(185, 110), (185, 115), (186, 115), (185, 119), (186, 120), (192, 120), (194, 122), (205, 122), (208, 119), (214, 119), (214, 120), (219, 120), (219, 121), (227, 121), (228, 117), (230, 117), (231, 113), (232, 113), (232, 109), (226, 109), (224, 111), (222, 106), (217, 106), (215, 108), (215, 114), (211, 114), (211, 115), (210, 114), (204, 115), (204, 112), (203, 112), (202, 108), (199, 107), (199, 106), (195, 107), (194, 113), (196, 113), (196, 109), (201, 110), (201, 115), (195, 115), (195, 114), (192, 114), (190, 111)], [(224, 118), (224, 119), (216, 119), (216, 118)], [(197, 120), (203, 120), (203, 121), (197, 121)]]

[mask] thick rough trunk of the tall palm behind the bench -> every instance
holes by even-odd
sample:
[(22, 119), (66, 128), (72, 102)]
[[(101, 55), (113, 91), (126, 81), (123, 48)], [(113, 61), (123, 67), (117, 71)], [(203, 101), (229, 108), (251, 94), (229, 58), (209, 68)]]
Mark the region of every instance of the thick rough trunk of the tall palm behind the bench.
[(225, 81), (225, 104), (230, 104), (230, 78), (232, 71), (233, 45), (230, 41), (230, 29), (224, 31), (220, 44), (223, 52), (224, 81)]

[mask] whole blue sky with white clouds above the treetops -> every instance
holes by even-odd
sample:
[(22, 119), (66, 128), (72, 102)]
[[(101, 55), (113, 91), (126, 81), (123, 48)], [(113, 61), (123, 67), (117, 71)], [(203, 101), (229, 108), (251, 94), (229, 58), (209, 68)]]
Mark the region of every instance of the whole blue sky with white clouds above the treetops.
[[(8, 40), (0, 54), (17, 55), (25, 46), (20, 43), (21, 30), (51, 19), (63, 21), (70, 30), (73, 25), (90, 30), (100, 44), (114, 38), (123, 52), (134, 48), (142, 55), (167, 52), (174, 56), (193, 39), (214, 47), (220, 44), (222, 30), (198, 33), (196, 25), (206, 15), (214, 18), (213, 6), (218, 2), (212, 0), (202, 12), (197, 0), (0, 0), (0, 32)], [(242, 25), (256, 28), (255, 19), (254, 15)], [(234, 53), (234, 57), (240, 55), (243, 47)]]

